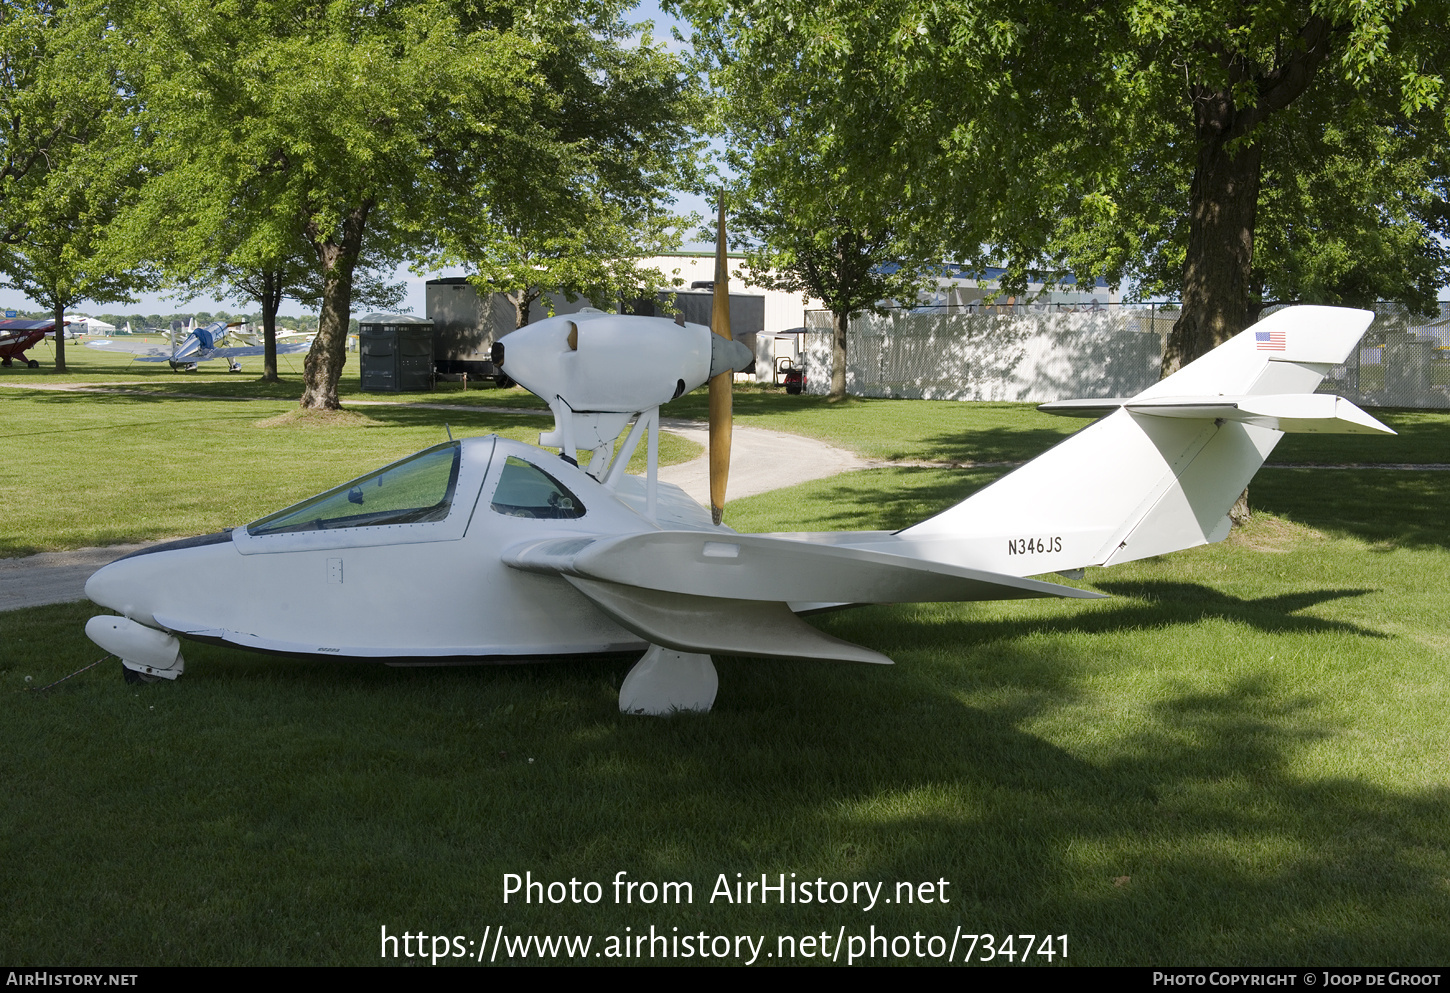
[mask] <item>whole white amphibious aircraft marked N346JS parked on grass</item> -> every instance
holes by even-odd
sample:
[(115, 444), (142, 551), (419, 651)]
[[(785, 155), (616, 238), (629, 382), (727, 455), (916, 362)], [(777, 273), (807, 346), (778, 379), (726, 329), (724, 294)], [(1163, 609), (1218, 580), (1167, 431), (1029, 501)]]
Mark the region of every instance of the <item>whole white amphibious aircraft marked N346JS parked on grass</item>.
[[(713, 323), (728, 329), (725, 317)], [(660, 317), (552, 317), (493, 358), (550, 403), (539, 444), (557, 455), (450, 441), (245, 528), (136, 552), (86, 584), (120, 615), (91, 618), (86, 633), (128, 678), (175, 678), (181, 638), (403, 665), (644, 652), (622, 710), (708, 710), (712, 654), (890, 662), (802, 613), (1096, 597), (1030, 577), (1222, 539), (1285, 432), (1393, 433), (1314, 393), (1372, 317), (1280, 310), (1135, 397), (1044, 404), (1101, 419), (905, 531), (768, 535), (719, 523), (729, 373), (748, 349)], [(706, 380), (724, 386), (710, 409), (713, 519), (657, 478), (660, 406)], [(624, 468), (641, 441), (642, 478)]]

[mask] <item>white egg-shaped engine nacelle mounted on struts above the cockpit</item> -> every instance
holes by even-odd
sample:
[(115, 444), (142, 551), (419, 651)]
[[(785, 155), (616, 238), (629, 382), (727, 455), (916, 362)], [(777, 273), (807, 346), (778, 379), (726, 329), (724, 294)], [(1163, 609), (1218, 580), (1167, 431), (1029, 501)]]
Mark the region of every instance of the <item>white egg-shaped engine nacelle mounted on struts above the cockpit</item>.
[(509, 378), (574, 412), (650, 410), (755, 358), (705, 325), (589, 312), (526, 325), (493, 349)]

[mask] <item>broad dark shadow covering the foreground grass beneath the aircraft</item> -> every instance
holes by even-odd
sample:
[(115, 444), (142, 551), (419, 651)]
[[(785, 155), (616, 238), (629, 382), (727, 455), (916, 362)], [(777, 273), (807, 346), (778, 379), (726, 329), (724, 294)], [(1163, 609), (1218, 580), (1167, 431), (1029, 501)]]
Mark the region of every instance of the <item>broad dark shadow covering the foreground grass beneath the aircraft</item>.
[[(83, 607), (26, 613), (49, 644), (12, 654), (0, 690), (58, 644), (77, 667), (96, 655)], [(1308, 751), (1363, 739), (1273, 668), (1166, 673), (1124, 722), (1122, 687), (1082, 671), (1105, 660), (1057, 644), (902, 645), (896, 667), (719, 660), (716, 710), (679, 719), (621, 716), (622, 664), (390, 670), (188, 645), (175, 684), (112, 671), (16, 697), (0, 935), (67, 964), (374, 961), (378, 925), (405, 921), (771, 942), (963, 925), (1067, 934), (1070, 964), (1444, 960), (1446, 790), (1306, 773)], [(1054, 720), (1082, 732), (1038, 729)], [(525, 870), (606, 894), (621, 871), (689, 881), (695, 899), (503, 906), (503, 874)], [(721, 877), (761, 873), (883, 881), (890, 899), (944, 880), (948, 902), (710, 902)]]

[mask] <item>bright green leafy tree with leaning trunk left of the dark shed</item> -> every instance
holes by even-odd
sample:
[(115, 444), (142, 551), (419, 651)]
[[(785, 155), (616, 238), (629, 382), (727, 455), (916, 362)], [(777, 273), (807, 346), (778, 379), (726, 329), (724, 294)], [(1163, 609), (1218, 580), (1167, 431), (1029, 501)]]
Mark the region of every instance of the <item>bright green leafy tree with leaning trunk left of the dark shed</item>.
[(151, 216), (180, 204), (191, 244), (206, 251), (238, 228), (268, 249), (257, 257), (306, 241), (322, 309), (302, 404), (336, 407), (360, 262), (419, 259), (499, 196), (528, 210), (539, 187), (567, 184), (580, 159), (594, 162), (597, 149), (638, 130), (597, 75), (608, 67), (570, 70), (600, 83), (599, 104), (570, 103), (551, 77), (573, 65), (580, 39), (616, 38), (618, 10), (613, 1), (583, 16), (563, 3), (152, 4), (136, 35), (158, 144)]

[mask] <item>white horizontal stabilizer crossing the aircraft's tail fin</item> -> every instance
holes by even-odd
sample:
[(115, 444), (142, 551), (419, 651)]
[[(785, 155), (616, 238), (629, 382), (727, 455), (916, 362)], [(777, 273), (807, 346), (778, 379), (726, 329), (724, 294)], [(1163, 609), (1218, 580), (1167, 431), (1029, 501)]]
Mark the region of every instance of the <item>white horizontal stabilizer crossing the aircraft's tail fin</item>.
[(1286, 433), (1393, 435), (1344, 397), (1330, 393), (1277, 393), (1266, 396), (1115, 397), (1105, 400), (1056, 400), (1038, 406), (1045, 413), (1103, 416), (1118, 407), (1154, 417), (1190, 420), (1234, 420)]

